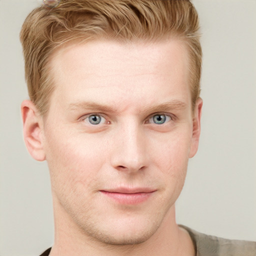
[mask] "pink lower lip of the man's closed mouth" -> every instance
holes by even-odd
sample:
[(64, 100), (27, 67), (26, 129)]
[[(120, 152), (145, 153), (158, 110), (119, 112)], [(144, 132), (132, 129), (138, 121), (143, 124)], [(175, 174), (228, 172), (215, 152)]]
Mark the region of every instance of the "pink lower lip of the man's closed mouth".
[(104, 195), (110, 197), (115, 202), (120, 204), (138, 204), (146, 201), (153, 192), (148, 193), (117, 193), (117, 192), (108, 192), (108, 191), (100, 191)]

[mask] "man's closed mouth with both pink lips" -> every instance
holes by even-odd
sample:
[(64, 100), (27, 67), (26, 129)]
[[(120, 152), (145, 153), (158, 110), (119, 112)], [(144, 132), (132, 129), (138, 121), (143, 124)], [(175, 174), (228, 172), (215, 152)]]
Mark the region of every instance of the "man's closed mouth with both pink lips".
[(100, 190), (100, 192), (119, 204), (139, 204), (148, 200), (155, 189), (151, 188), (116, 188)]

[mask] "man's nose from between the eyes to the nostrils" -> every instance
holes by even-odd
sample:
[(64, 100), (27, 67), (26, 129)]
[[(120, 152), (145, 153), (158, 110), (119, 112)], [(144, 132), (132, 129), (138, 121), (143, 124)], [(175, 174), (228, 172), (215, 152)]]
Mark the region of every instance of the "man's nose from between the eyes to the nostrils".
[(124, 124), (113, 135), (112, 166), (120, 171), (136, 172), (148, 165), (146, 136), (135, 123)]

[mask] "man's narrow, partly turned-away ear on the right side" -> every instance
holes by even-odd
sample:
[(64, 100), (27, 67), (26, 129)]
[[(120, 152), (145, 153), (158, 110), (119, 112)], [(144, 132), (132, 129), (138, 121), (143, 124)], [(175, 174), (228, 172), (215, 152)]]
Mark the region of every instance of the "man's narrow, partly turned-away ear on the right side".
[(197, 151), (199, 136), (201, 131), (201, 110), (202, 110), (202, 99), (197, 98), (194, 106), (193, 115), (193, 132), (190, 142), (189, 158), (193, 157)]

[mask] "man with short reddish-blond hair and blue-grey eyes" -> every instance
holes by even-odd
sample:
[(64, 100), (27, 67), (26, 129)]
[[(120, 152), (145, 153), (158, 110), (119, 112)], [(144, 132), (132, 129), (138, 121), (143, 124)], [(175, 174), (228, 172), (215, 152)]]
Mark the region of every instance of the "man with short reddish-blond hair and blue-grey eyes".
[(254, 242), (175, 221), (202, 107), (190, 1), (52, 2), (20, 34), (25, 143), (52, 187), (55, 240), (42, 255), (255, 255)]

